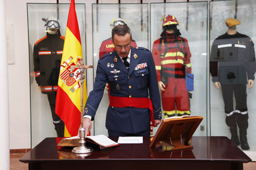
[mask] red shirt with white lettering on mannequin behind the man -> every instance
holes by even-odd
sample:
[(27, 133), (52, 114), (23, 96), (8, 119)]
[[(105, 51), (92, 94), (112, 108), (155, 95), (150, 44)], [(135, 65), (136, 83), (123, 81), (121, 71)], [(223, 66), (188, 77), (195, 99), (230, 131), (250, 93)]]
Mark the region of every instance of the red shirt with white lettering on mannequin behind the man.
[[(100, 52), (99, 52), (99, 59), (107, 53), (113, 52), (115, 50), (115, 46), (111, 40), (112, 38), (108, 38), (104, 41), (102, 41), (100, 45)], [(136, 48), (137, 44), (136, 42), (132, 39), (132, 47)]]

